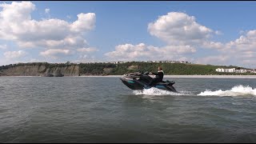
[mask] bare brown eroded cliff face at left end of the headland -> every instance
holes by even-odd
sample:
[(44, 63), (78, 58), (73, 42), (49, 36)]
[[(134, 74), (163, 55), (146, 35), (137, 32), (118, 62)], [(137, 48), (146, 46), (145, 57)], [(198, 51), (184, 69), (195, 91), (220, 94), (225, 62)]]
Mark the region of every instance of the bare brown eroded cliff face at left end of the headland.
[(2, 70), (2, 76), (42, 76), (44, 74), (64, 74), (64, 76), (78, 76), (79, 66), (50, 67), (46, 66), (14, 66)]

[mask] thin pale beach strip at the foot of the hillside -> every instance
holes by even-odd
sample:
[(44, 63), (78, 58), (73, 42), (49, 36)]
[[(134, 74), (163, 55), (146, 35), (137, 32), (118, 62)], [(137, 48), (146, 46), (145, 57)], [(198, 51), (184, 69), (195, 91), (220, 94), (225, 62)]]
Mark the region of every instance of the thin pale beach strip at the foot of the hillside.
[[(124, 75), (82, 75), (64, 77), (98, 77), (98, 78), (122, 78)], [(0, 76), (1, 77), (41, 77), (41, 76)], [(256, 75), (165, 75), (164, 78), (256, 78)]]

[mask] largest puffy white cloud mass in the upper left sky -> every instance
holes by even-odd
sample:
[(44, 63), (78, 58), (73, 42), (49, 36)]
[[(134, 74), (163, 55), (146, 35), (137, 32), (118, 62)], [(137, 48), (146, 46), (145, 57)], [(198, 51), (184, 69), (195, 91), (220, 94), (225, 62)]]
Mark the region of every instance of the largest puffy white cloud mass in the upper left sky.
[[(35, 10), (32, 2), (4, 3), (0, 7), (0, 39), (16, 42), (19, 47), (41, 47), (46, 49), (43, 56), (61, 49), (58, 52), (66, 54), (66, 50), (88, 47), (83, 34), (93, 30), (96, 22), (94, 13), (78, 14), (78, 19), (71, 23), (57, 18), (37, 21), (31, 18)], [(49, 14), (50, 9), (45, 9), (45, 13)]]

